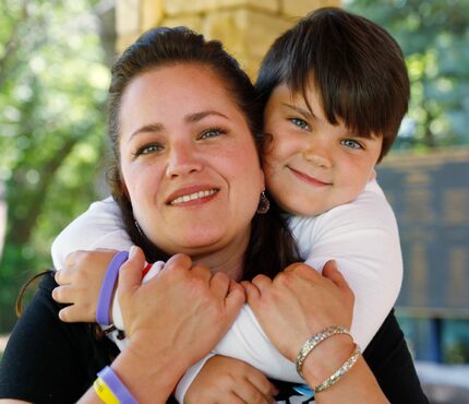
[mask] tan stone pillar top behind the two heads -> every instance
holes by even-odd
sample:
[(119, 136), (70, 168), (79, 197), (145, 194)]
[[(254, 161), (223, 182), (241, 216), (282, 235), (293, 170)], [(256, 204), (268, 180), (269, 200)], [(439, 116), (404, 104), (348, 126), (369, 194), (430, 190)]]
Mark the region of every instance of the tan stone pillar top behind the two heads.
[(255, 78), (268, 46), (299, 16), (340, 0), (117, 0), (118, 51), (154, 26), (185, 25), (221, 40)]

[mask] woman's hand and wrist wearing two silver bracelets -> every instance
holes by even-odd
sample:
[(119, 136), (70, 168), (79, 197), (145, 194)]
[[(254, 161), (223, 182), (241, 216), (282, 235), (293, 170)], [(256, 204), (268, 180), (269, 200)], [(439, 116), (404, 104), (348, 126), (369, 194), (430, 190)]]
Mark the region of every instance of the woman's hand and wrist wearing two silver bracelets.
[[(330, 325), (350, 328), (353, 293), (333, 261), (326, 263), (323, 275), (296, 263), (273, 281), (257, 275), (252, 283), (243, 282), (243, 286), (261, 326), (276, 348), (293, 363), (312, 335)], [(314, 388), (344, 363), (352, 348), (352, 340), (347, 335), (327, 338), (306, 357), (303, 375), (310, 376), (308, 381)]]

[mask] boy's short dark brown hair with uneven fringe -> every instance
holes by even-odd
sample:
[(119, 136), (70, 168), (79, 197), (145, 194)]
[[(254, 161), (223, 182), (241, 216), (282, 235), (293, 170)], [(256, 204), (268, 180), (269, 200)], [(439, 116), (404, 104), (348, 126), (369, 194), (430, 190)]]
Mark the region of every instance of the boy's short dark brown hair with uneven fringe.
[(264, 103), (280, 84), (292, 93), (314, 85), (333, 124), (363, 138), (383, 136), (389, 151), (407, 111), (409, 78), (396, 40), (375, 23), (337, 8), (318, 9), (282, 34), (265, 56), (256, 82)]

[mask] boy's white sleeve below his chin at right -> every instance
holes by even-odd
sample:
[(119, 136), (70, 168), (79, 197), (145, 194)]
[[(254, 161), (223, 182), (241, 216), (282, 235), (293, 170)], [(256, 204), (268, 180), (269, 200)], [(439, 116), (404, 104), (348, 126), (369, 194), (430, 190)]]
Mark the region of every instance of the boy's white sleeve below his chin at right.
[(315, 269), (330, 259), (354, 293), (351, 332), (364, 349), (400, 290), (402, 259), (396, 218), (377, 182), (353, 202), (312, 218), (292, 218), (302, 257)]

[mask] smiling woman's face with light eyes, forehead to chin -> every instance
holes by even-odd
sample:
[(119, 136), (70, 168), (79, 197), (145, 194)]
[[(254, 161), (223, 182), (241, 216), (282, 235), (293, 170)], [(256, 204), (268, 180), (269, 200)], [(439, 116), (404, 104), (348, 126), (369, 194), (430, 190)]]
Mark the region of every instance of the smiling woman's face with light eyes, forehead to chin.
[(125, 90), (120, 123), (122, 177), (146, 236), (167, 253), (244, 249), (264, 176), (219, 79), (200, 64), (146, 72)]

